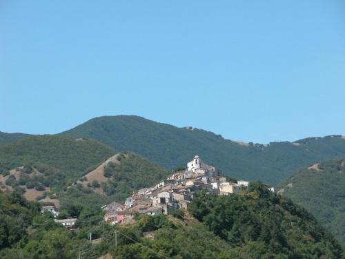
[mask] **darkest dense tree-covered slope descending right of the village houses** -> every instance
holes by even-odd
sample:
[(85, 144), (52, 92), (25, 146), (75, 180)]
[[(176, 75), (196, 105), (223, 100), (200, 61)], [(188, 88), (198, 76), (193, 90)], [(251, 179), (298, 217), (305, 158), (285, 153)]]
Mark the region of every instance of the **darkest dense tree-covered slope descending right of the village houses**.
[(306, 209), (259, 182), (241, 195), (199, 195), (190, 211), (234, 251), (229, 258), (341, 258), (339, 243)]

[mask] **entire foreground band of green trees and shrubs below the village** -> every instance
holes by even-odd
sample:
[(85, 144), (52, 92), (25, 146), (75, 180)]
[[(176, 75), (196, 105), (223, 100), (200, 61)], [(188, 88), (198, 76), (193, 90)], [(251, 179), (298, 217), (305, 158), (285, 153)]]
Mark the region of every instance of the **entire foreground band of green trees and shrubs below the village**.
[[(0, 205), (0, 256), (6, 259), (92, 259), (106, 253), (113, 258), (344, 258), (311, 214), (259, 182), (241, 195), (201, 193), (190, 211), (176, 218), (137, 216), (126, 226), (110, 226), (102, 222), (103, 211), (84, 208), (79, 232), (55, 224), (37, 203), (17, 193), (0, 193)], [(89, 233), (97, 242), (88, 242)]]

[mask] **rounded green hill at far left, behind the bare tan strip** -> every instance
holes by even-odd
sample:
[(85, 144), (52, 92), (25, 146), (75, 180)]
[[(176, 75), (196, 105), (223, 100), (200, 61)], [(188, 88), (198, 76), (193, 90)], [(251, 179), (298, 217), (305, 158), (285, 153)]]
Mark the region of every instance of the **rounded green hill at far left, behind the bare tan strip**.
[(95, 140), (55, 135), (26, 137), (13, 144), (0, 145), (0, 173), (5, 176), (11, 169), (24, 166), (20, 179), (12, 176), (8, 185), (15, 187), (32, 182), (35, 186), (59, 189), (113, 154), (112, 148)]

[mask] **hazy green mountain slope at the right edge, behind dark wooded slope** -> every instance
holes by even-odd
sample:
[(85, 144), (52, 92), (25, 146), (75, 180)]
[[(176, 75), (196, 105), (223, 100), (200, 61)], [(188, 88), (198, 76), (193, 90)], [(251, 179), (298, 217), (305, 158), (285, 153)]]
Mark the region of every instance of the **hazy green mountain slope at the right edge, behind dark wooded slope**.
[(279, 185), (279, 193), (313, 213), (345, 247), (345, 159), (314, 164)]

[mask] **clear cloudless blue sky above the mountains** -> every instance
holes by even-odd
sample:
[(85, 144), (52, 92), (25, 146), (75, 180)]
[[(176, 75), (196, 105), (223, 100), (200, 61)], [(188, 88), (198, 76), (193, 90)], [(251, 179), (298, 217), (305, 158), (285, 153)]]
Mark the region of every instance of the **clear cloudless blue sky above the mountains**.
[(0, 131), (123, 114), (259, 143), (345, 135), (345, 1), (0, 1)]

